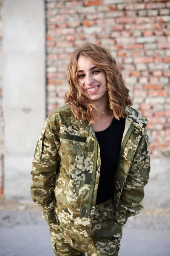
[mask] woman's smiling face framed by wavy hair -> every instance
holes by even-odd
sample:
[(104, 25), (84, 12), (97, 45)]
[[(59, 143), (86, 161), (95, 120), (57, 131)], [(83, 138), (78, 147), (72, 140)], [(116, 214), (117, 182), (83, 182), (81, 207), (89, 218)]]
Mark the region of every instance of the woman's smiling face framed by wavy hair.
[(96, 67), (90, 59), (80, 56), (78, 59), (78, 80), (87, 90), (94, 102), (107, 103), (107, 81), (101, 68)]

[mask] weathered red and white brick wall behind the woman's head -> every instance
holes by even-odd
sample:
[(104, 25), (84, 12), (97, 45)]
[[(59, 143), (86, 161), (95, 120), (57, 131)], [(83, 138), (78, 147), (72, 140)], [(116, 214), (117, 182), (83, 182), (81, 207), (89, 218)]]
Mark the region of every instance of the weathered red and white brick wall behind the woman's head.
[(111, 50), (133, 107), (149, 119), (150, 152), (170, 154), (170, 1), (46, 1), (47, 113), (64, 104), (66, 64), (88, 41)]

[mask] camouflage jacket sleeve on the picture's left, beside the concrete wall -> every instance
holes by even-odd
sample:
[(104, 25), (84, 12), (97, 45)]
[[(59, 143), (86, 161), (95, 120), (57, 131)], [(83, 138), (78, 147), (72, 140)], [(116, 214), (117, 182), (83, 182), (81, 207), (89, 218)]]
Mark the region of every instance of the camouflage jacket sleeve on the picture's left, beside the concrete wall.
[(35, 203), (42, 206), (42, 218), (48, 222), (56, 221), (54, 187), (60, 162), (60, 143), (53, 127), (48, 116), (37, 142), (31, 170), (31, 196)]

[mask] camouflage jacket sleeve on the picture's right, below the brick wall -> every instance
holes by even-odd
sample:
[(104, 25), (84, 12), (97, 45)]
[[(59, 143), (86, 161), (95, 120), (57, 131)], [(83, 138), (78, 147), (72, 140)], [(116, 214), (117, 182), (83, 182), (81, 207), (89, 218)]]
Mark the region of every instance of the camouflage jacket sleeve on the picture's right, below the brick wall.
[(125, 224), (127, 218), (142, 212), (144, 186), (150, 173), (149, 140), (146, 129), (139, 141), (130, 170), (122, 189), (121, 198), (114, 214), (116, 222)]

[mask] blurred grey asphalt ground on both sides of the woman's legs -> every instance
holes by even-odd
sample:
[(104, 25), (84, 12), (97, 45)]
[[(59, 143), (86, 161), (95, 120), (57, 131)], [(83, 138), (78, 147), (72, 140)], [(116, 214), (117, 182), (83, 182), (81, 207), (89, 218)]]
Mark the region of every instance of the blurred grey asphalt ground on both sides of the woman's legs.
[[(123, 229), (119, 256), (170, 256), (170, 211), (145, 209)], [(41, 207), (0, 200), (0, 256), (54, 256)]]

